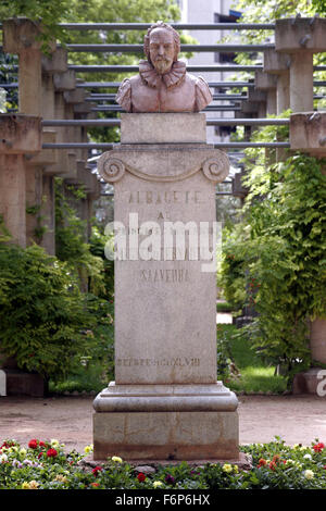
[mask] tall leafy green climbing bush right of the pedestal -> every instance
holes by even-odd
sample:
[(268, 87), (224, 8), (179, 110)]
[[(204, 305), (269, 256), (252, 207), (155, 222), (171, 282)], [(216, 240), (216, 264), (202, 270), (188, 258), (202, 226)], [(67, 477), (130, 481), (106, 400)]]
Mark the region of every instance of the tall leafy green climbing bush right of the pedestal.
[[(259, 130), (253, 141), (278, 132)], [(264, 150), (246, 152), (249, 196), (242, 222), (225, 233), (220, 284), (234, 306), (254, 307), (253, 346), (292, 374), (311, 363), (308, 321), (326, 316), (325, 160), (292, 154), (268, 164)]]

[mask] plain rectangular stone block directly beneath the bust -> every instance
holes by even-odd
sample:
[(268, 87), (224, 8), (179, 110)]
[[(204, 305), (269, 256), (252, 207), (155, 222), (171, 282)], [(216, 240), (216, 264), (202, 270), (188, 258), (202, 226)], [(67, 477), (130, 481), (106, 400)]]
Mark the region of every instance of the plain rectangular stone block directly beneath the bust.
[[(206, 141), (204, 113), (122, 113), (122, 144), (195, 144)], [(185, 129), (187, 127), (187, 129)]]

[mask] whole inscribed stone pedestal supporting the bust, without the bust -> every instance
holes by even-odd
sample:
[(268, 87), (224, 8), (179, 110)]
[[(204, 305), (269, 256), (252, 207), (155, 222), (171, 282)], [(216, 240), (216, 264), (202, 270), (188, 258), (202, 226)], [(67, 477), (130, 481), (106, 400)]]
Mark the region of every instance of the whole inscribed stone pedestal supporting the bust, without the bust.
[(237, 459), (237, 398), (216, 382), (212, 261), (227, 157), (205, 144), (202, 113), (122, 114), (122, 145), (99, 170), (118, 234), (115, 382), (93, 402), (95, 459)]

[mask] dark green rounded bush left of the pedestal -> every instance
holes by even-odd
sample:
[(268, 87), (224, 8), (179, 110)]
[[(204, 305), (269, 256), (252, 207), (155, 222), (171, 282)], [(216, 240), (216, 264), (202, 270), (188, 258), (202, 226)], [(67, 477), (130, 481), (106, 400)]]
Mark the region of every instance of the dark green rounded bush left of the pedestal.
[(67, 265), (34, 245), (0, 244), (0, 346), (20, 367), (46, 378), (72, 371), (87, 354), (92, 325)]

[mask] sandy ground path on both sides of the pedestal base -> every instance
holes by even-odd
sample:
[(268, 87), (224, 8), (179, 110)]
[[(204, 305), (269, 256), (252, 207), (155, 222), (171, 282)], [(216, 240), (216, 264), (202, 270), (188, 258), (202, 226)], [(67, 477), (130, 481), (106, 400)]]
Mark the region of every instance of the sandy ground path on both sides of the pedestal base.
[[(0, 440), (57, 438), (82, 451), (92, 444), (92, 397), (0, 397)], [(326, 443), (326, 398), (239, 396), (240, 444), (266, 443), (275, 435), (289, 445)]]

